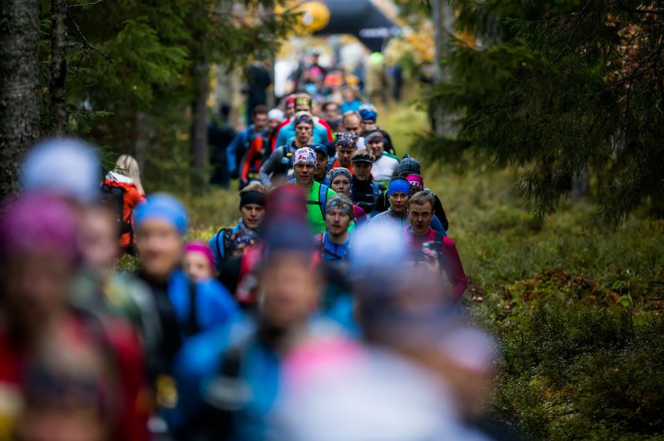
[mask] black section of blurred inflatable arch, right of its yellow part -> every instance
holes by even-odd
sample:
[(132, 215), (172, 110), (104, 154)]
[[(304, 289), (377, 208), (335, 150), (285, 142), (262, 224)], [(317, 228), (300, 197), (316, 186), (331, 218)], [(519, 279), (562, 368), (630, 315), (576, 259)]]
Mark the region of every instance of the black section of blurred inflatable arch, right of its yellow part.
[(400, 32), (399, 26), (369, 0), (325, 0), (322, 3), (329, 10), (330, 19), (327, 26), (314, 35), (351, 34), (371, 52), (376, 52)]

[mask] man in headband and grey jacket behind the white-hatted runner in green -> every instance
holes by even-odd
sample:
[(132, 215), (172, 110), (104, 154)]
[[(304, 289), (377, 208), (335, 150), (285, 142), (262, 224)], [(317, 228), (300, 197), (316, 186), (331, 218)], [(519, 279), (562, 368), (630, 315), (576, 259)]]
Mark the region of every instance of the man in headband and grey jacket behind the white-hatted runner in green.
[(311, 113), (295, 113), (293, 123), (296, 130), (295, 138), (287, 145), (273, 151), (268, 160), (261, 166), (259, 172), (261, 182), (268, 189), (285, 182), (291, 177), (295, 151), (312, 143), (313, 119)]

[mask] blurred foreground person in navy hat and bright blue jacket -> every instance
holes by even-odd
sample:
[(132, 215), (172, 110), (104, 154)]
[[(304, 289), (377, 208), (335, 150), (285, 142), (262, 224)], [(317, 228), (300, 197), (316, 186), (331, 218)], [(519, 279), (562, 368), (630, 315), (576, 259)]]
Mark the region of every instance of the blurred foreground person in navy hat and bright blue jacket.
[[(290, 197), (277, 209), (290, 210)], [(298, 198), (304, 206), (302, 193)], [(296, 209), (298, 218), (277, 216), (266, 225), (257, 314), (188, 341), (178, 355), (172, 422), (183, 440), (266, 439), (282, 357), (311, 332), (320, 290), (311, 233)]]

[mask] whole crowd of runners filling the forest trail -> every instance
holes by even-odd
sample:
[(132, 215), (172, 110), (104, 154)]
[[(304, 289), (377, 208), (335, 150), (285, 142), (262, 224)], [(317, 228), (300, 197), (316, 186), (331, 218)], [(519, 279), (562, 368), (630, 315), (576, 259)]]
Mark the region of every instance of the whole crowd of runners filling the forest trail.
[(239, 220), (207, 242), (131, 156), (102, 178), (81, 140), (28, 152), (0, 217), (0, 440), (499, 438), (445, 201), (374, 106), (312, 104), (253, 109)]

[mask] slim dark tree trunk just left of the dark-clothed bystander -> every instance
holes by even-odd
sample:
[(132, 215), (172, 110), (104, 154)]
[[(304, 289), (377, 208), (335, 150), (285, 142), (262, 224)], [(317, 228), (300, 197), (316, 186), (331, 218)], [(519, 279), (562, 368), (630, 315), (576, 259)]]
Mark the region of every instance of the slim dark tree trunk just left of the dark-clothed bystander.
[(208, 158), (207, 102), (210, 93), (209, 66), (199, 63), (195, 67), (198, 78), (196, 97), (192, 102), (191, 158), (192, 185), (194, 189), (202, 188), (207, 182), (205, 164)]

